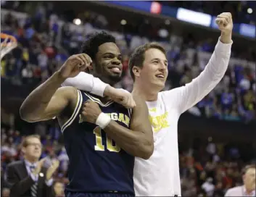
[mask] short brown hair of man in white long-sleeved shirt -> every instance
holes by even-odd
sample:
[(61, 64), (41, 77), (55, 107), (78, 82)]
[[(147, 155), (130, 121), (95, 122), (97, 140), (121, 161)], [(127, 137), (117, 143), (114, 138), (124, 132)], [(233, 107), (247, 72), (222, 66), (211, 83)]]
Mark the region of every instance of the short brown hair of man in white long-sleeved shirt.
[(159, 43), (145, 43), (144, 45), (139, 46), (138, 48), (136, 48), (133, 53), (130, 56), (129, 59), (129, 70), (130, 70), (130, 74), (131, 77), (134, 80), (134, 74), (133, 74), (133, 67), (143, 67), (143, 62), (145, 59), (145, 52), (149, 49), (159, 49), (160, 51), (162, 51), (162, 53), (165, 54), (166, 56), (166, 51), (165, 49), (159, 44)]

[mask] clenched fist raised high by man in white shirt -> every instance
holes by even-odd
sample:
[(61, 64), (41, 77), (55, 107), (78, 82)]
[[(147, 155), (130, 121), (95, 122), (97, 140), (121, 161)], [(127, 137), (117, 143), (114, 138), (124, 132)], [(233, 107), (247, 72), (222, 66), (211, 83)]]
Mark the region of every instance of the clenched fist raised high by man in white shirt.
[(221, 31), (220, 40), (223, 41), (223, 43), (231, 43), (233, 30), (232, 14), (230, 12), (223, 12), (217, 16), (215, 22)]

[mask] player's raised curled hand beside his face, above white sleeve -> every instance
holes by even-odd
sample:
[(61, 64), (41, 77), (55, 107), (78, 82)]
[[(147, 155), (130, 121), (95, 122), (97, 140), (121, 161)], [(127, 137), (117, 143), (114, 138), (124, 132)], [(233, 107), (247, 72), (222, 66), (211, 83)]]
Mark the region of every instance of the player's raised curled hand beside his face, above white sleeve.
[(86, 70), (91, 63), (91, 57), (87, 54), (75, 54), (67, 59), (58, 72), (64, 79), (75, 77), (79, 72)]

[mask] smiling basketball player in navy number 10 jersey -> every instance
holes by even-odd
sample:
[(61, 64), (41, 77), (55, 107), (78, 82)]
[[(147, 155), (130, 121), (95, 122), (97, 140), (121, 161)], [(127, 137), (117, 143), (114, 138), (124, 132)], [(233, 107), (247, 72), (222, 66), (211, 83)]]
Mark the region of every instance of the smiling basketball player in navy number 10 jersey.
[(107, 98), (73, 87), (59, 88), (86, 67), (104, 83), (115, 85), (120, 80), (123, 65), (112, 35), (92, 36), (82, 51), (30, 93), (20, 115), (28, 122), (57, 117), (70, 159), (67, 197), (134, 196), (134, 156), (149, 159), (154, 149), (146, 103), (133, 93), (136, 106), (131, 112)]

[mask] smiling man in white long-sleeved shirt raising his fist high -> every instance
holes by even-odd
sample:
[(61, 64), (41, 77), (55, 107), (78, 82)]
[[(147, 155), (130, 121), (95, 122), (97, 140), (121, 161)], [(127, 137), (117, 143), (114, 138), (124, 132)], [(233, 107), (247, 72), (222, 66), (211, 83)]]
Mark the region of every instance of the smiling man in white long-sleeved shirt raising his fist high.
[[(134, 80), (133, 91), (146, 99), (154, 130), (154, 153), (146, 161), (135, 159), (136, 196), (181, 196), (178, 118), (215, 88), (227, 70), (231, 55), (231, 13), (218, 15), (216, 23), (221, 35), (210, 61), (197, 78), (180, 88), (160, 92), (168, 76), (168, 61), (162, 46), (146, 43), (131, 55), (129, 67)], [(73, 78), (73, 85), (82, 78), (83, 73)]]

